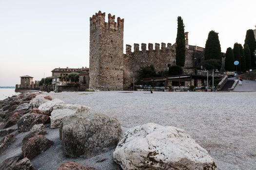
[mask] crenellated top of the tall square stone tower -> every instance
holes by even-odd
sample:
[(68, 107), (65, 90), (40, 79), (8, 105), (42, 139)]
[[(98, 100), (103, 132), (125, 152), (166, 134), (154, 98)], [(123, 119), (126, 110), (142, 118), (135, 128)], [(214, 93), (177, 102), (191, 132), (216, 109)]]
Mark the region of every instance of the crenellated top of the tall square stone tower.
[(112, 16), (108, 14), (108, 22), (105, 22), (105, 13), (95, 13), (92, 17), (90, 17), (90, 25), (99, 25), (100, 27), (109, 28), (113, 30), (123, 30), (124, 19), (118, 17), (117, 22), (115, 22), (116, 16)]

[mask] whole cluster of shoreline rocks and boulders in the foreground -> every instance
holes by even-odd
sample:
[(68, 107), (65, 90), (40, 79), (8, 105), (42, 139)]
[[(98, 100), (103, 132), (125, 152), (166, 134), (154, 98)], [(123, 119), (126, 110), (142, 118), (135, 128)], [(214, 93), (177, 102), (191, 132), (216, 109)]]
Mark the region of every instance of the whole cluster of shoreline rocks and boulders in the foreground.
[[(122, 134), (118, 119), (92, 113), (88, 106), (67, 104), (41, 93), (0, 101), (0, 153), (15, 141), (15, 132), (30, 131), (22, 140), (22, 156), (7, 158), (0, 169), (34, 170), (30, 160), (54, 145), (44, 124), (59, 128), (63, 154), (90, 158), (115, 149), (113, 160), (123, 170), (216, 170), (214, 159), (184, 130), (147, 123)], [(14, 127), (13, 125), (16, 125)], [(9, 127), (9, 128), (7, 128)], [(96, 170), (66, 162), (57, 170)]]

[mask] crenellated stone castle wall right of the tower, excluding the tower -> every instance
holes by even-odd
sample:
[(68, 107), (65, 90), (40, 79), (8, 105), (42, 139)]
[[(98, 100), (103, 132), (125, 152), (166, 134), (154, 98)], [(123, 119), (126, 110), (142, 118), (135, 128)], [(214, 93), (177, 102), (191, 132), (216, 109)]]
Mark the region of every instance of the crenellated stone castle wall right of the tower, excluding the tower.
[[(186, 49), (185, 51), (185, 65), (184, 68), (193, 67), (195, 65), (195, 51)], [(134, 44), (134, 52), (131, 51), (131, 46), (126, 45), (126, 54), (124, 54), (124, 74), (123, 84), (124, 89), (128, 89), (133, 83), (133, 76), (137, 81), (138, 70), (141, 67), (153, 65), (157, 72), (165, 71), (168, 66), (176, 65), (176, 45), (171, 43), (148, 44), (148, 50), (146, 50), (146, 44), (141, 44), (141, 50), (139, 50), (139, 44)]]

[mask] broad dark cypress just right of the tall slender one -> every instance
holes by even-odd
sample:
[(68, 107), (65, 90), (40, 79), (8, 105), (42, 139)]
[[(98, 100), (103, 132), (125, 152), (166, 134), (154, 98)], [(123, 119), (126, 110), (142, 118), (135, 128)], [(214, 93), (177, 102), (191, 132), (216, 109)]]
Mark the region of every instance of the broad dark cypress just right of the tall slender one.
[(218, 33), (210, 31), (205, 44), (205, 60), (217, 59), (221, 61), (221, 48), (218, 39)]

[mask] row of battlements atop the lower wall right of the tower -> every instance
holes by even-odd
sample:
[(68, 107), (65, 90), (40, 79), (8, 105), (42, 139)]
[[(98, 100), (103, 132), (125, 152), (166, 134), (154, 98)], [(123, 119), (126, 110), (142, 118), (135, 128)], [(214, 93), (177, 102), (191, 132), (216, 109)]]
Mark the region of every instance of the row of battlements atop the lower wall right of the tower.
[[(148, 50), (147, 50), (147, 44), (141, 43), (141, 51), (146, 52), (146, 51), (165, 51), (165, 50), (171, 50), (172, 49), (172, 44), (167, 43), (167, 47), (165, 43), (161, 43), (161, 49), (160, 49), (160, 44), (155, 43), (155, 49), (153, 49), (153, 44), (148, 43)], [(134, 52), (138, 52), (139, 50), (139, 44), (134, 43)], [(129, 44), (126, 44), (126, 54), (132, 53), (132, 46)]]

